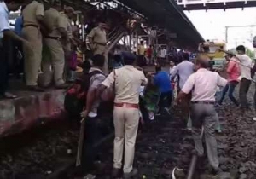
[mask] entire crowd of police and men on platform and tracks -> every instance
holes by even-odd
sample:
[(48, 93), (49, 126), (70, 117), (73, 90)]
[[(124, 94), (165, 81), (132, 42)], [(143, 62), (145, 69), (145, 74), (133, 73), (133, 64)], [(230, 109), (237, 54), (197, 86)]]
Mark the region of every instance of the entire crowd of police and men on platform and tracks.
[[(16, 33), (9, 28), (9, 11), (16, 11), (22, 5), (22, 18), (16, 20)], [(12, 38), (22, 43), (24, 54), (25, 81), (28, 90), (42, 92), (54, 81), (57, 89), (66, 89), (67, 84), (63, 73), (67, 59), (73, 55), (75, 46), (79, 45), (72, 31), (71, 20), (74, 10), (71, 7), (61, 8), (61, 3), (55, 1), (51, 8), (44, 9), (43, 3), (31, 1), (24, 5), (21, 0), (5, 0), (0, 3), (0, 95), (5, 98), (15, 98), (7, 92), (8, 64), (6, 56), (6, 38)], [(64, 14), (61, 11), (64, 10)], [(86, 140), (84, 145), (84, 166), (93, 166), (96, 151), (93, 146), (99, 140), (98, 122), (101, 115), (98, 108), (102, 101), (113, 101), (113, 177), (118, 177), (123, 168), (124, 178), (137, 175), (133, 167), (137, 130), (139, 126), (140, 101), (142, 86), (154, 84), (159, 90), (160, 100), (157, 114), (169, 113), (173, 101), (173, 91), (177, 88), (177, 103), (181, 105), (189, 130), (195, 141), (194, 154), (202, 156), (204, 148), (201, 130), (204, 129), (207, 144), (207, 156), (212, 165), (213, 174), (218, 174), (219, 161), (217, 141), (214, 136), (215, 124), (218, 121), (216, 113), (216, 92), (223, 87), (223, 95), (218, 101), (221, 106), (225, 94), (229, 91), (230, 100), (241, 113), (249, 109), (247, 92), (252, 83), (256, 66), (246, 55), (243, 46), (236, 48), (237, 54), (226, 52), (228, 61), (226, 72), (228, 79), (222, 78), (218, 72), (212, 72), (207, 55), (198, 55), (195, 62), (189, 61), (189, 54), (181, 55), (182, 61), (170, 62), (170, 71), (165, 71), (167, 53), (165, 47), (156, 50), (149, 45), (144, 48), (143, 41), (137, 47), (137, 55), (130, 51), (116, 48), (113, 59), (116, 62), (113, 71), (108, 75), (106, 25), (99, 23), (92, 28), (88, 35), (90, 49), (93, 51), (91, 63), (86, 61), (84, 75), (87, 75), (88, 89), (86, 101), (81, 112), (82, 120), (86, 123)], [(219, 49), (223, 50), (223, 49)], [(140, 67), (135, 67), (135, 64)], [(89, 64), (88, 64), (89, 63)], [(143, 72), (143, 66), (154, 65), (155, 72)], [(107, 67), (107, 68), (106, 68)], [(44, 74), (44, 83), (38, 85), (39, 69)], [(52, 80), (52, 77), (54, 80)], [(82, 81), (83, 83), (83, 81)], [(233, 93), (240, 84), (239, 98)], [(256, 96), (256, 94), (255, 94)], [(124, 150), (125, 148), (125, 150)], [(124, 160), (124, 161), (123, 161)]]

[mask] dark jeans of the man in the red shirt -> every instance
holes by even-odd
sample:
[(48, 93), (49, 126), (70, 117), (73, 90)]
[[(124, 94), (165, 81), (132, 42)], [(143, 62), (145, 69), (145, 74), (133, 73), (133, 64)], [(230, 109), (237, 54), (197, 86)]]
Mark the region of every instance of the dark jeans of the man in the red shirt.
[(239, 103), (238, 101), (236, 101), (236, 98), (234, 97), (233, 93), (234, 93), (234, 90), (236, 88), (236, 85), (238, 84), (238, 82), (236, 81), (231, 81), (229, 82), (225, 87), (224, 87), (224, 90), (222, 91), (222, 96), (219, 100), (219, 104), (222, 104), (222, 102), (224, 101), (224, 97), (226, 95), (226, 93), (228, 92), (228, 95), (230, 97), (230, 100), (236, 104), (236, 106), (238, 107), (239, 106)]

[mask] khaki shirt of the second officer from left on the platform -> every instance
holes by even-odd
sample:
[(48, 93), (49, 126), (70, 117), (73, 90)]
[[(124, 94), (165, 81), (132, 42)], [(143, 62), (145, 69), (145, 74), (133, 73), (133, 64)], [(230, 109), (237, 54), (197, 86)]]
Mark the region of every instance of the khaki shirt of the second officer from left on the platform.
[(61, 38), (61, 32), (58, 28), (66, 29), (66, 20), (62, 17), (61, 13), (56, 9), (50, 8), (44, 12), (44, 22), (51, 30), (48, 36), (54, 38)]

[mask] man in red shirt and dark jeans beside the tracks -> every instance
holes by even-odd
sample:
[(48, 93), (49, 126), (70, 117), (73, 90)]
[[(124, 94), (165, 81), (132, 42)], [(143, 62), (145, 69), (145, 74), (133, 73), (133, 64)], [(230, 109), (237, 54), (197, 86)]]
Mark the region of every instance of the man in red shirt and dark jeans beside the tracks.
[(228, 61), (227, 70), (226, 70), (228, 74), (228, 84), (224, 87), (222, 97), (218, 101), (218, 104), (222, 105), (222, 102), (224, 101), (224, 97), (226, 93), (229, 91), (228, 95), (230, 97), (230, 100), (238, 107), (239, 103), (238, 101), (236, 101), (236, 98), (234, 97), (233, 93), (236, 88), (236, 85), (239, 83), (239, 80), (238, 80), (240, 76), (239, 61), (230, 55), (226, 55), (225, 58), (226, 58), (226, 61)]

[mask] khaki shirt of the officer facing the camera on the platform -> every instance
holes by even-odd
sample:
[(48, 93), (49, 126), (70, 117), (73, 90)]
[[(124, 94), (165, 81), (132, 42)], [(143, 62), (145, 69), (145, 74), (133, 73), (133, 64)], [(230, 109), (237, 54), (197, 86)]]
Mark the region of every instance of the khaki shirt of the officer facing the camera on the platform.
[(92, 38), (94, 43), (102, 43), (107, 45), (107, 34), (105, 30), (99, 27), (93, 28), (88, 34), (88, 38)]

